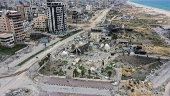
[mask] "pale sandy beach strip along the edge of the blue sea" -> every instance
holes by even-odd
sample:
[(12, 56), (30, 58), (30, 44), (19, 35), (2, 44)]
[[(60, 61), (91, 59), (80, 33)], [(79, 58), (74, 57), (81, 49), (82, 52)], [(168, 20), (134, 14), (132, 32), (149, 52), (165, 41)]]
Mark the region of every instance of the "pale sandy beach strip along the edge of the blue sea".
[(152, 13), (156, 13), (156, 14), (164, 14), (164, 15), (170, 17), (170, 11), (167, 11), (167, 10), (158, 9), (158, 8), (150, 7), (150, 6), (146, 6), (146, 5), (141, 5), (141, 4), (133, 3), (133, 2), (129, 2), (129, 1), (127, 1), (127, 4), (134, 5), (135, 7), (142, 7), (142, 9), (146, 12), (152, 12)]

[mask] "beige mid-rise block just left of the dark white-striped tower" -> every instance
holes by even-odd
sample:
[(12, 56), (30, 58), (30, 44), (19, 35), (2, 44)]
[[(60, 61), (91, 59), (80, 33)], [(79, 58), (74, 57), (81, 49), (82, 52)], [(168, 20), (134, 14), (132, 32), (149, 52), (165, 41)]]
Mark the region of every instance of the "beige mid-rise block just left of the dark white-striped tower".
[(37, 31), (48, 31), (48, 18), (41, 16), (33, 19), (34, 29)]

